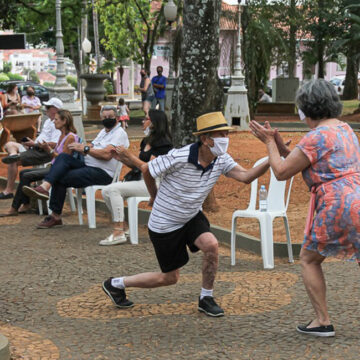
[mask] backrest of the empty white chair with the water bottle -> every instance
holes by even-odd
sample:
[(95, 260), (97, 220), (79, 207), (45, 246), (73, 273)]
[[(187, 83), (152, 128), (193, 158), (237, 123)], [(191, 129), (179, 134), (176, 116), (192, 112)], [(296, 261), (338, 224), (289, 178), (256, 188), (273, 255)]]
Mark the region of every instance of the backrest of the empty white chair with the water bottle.
[[(258, 166), (259, 164), (263, 163), (267, 160), (267, 157), (261, 158), (254, 164)], [(273, 170), (270, 168), (270, 184), (267, 187), (268, 191), (268, 211), (286, 211), (290, 201), (290, 192), (292, 187), (292, 182), (294, 177), (290, 179), (289, 188), (287, 192), (287, 198), (285, 201), (285, 192), (286, 192), (286, 183), (287, 181), (279, 181), (276, 179)], [(258, 208), (257, 206), (257, 196), (258, 196), (258, 180), (255, 179), (251, 183), (251, 194), (250, 194), (250, 202), (247, 210), (255, 210)]]

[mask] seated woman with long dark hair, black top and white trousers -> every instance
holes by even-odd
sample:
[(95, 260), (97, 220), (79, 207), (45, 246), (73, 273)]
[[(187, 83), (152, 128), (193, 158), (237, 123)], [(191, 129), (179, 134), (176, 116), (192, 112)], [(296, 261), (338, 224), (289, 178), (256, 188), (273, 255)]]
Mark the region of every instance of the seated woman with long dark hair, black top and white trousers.
[[(164, 112), (150, 110), (149, 116), (143, 120), (143, 130), (146, 137), (140, 144), (140, 160), (148, 162), (158, 155), (167, 154), (172, 149), (169, 125)], [(136, 159), (136, 156), (124, 147), (116, 147), (115, 157), (125, 165), (134, 167), (134, 158)], [(101, 240), (99, 245), (117, 245), (126, 242), (124, 232), (124, 198), (149, 196), (140, 170), (134, 168), (127, 177), (131, 177), (131, 175), (136, 177), (136, 174), (138, 174), (138, 180), (113, 183), (102, 190), (106, 206), (112, 214), (114, 228), (113, 233), (106, 239)]]

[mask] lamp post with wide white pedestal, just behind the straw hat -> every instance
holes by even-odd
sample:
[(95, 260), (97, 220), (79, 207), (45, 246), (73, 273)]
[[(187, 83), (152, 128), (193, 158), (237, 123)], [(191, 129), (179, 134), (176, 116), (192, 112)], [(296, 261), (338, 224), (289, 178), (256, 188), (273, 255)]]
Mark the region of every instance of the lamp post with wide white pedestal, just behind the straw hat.
[(225, 118), (229, 125), (238, 125), (241, 129), (245, 130), (249, 128), (250, 113), (241, 62), (241, 12), (243, 5), (245, 5), (245, 0), (238, 0), (238, 34), (235, 69), (231, 76), (231, 87), (228, 90)]

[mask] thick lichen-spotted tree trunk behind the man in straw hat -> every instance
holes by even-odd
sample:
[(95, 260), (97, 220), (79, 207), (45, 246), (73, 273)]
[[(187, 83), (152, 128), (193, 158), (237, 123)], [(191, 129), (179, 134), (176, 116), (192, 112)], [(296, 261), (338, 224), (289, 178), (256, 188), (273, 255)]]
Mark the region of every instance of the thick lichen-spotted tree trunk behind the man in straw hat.
[[(172, 101), (171, 131), (175, 146), (194, 141), (196, 118), (223, 111), (224, 94), (218, 78), (221, 1), (184, 1), (181, 67)], [(205, 200), (216, 211), (213, 190)]]

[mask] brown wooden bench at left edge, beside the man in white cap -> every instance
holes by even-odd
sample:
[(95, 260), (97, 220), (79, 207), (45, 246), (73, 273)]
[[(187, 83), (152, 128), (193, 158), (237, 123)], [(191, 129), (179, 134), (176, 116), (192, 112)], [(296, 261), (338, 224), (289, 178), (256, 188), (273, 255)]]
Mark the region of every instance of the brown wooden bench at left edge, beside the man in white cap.
[(21, 142), (23, 137), (35, 139), (37, 121), (41, 114), (34, 112), (30, 114), (5, 115), (1, 121), (3, 131), (0, 136), (0, 150), (4, 150), (4, 145), (10, 140), (10, 134)]

